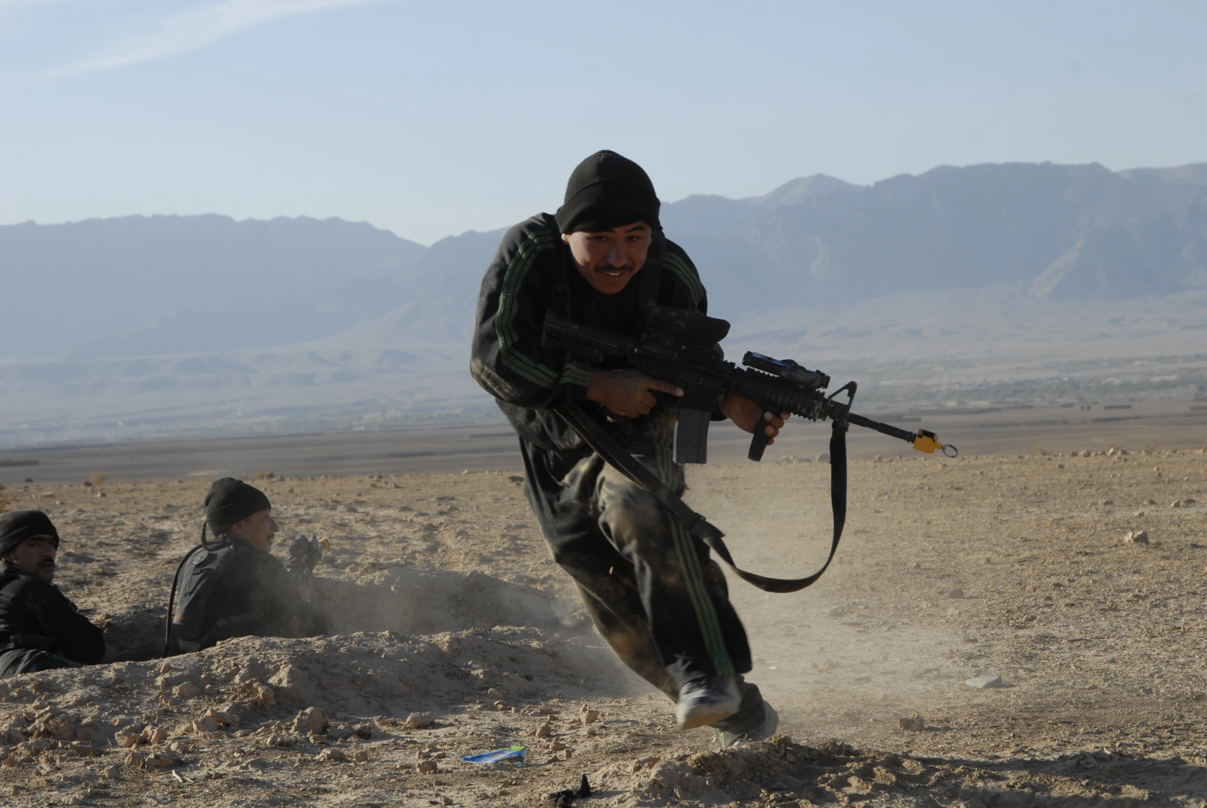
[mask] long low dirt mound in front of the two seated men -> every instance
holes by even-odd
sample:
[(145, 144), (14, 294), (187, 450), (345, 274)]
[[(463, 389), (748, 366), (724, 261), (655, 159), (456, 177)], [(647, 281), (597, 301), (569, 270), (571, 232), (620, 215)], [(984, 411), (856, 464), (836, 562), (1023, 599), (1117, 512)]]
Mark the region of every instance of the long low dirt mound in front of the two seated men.
[(136, 720), (183, 726), (210, 709), (255, 722), (287, 718), (299, 707), (389, 716), (483, 698), (529, 699), (585, 679), (599, 681), (600, 671), (614, 668), (602, 654), (570, 642), (550, 644), (536, 628), (422, 638), (392, 632), (246, 637), (168, 660), (0, 681), (0, 727), (53, 707), (57, 714), (70, 713), (68, 720), (81, 728), (74, 737), (103, 743)]

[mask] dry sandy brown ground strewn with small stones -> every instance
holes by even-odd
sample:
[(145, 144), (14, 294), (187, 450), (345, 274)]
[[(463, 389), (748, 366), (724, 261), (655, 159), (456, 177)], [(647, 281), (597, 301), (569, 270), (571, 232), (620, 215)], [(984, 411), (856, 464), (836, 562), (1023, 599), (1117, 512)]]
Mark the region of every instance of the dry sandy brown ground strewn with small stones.
[[(783, 734), (719, 754), (601, 648), (515, 474), (262, 480), (286, 537), (332, 541), (338, 633), (168, 661), (206, 482), (17, 485), (113, 661), (0, 683), (0, 798), (536, 806), (587, 773), (576, 804), (1205, 806), (1207, 456), (1129, 449), (853, 462), (821, 582), (730, 585)], [(690, 498), (748, 568), (804, 574), (828, 469), (693, 468)], [(512, 744), (525, 766), (457, 761)]]

